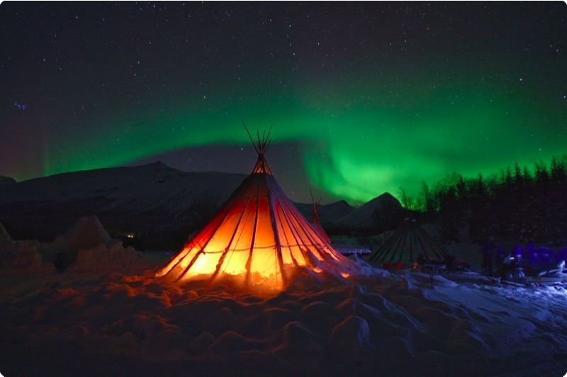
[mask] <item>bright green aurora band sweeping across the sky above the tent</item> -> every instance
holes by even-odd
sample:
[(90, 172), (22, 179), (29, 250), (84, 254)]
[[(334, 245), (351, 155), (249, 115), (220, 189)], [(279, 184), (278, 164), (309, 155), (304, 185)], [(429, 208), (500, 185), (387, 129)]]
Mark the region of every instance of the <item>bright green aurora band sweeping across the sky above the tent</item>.
[(273, 124), (274, 142), (301, 141), (313, 186), (352, 203), (398, 195), (400, 187), (415, 194), (422, 180), (452, 172), (487, 175), (515, 161), (532, 166), (566, 153), (563, 98), (536, 83), (488, 77), (382, 74), (286, 91), (267, 85), (248, 95), (219, 89), (153, 107), (147, 98), (143, 111), (94, 119), (91, 126), (104, 127), (84, 127), (71, 135), (72, 144), (52, 137), (59, 148), (46, 151), (44, 175), (120, 166), (189, 146), (246, 145), (240, 120), (252, 129)]

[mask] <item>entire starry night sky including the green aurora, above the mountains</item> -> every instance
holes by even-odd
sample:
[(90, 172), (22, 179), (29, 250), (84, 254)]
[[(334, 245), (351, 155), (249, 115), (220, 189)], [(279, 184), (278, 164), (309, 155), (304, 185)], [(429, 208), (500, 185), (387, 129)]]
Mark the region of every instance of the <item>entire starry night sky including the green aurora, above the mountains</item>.
[(160, 159), (307, 201), (567, 153), (567, 5), (0, 5), (0, 175)]

